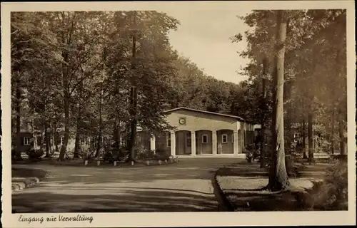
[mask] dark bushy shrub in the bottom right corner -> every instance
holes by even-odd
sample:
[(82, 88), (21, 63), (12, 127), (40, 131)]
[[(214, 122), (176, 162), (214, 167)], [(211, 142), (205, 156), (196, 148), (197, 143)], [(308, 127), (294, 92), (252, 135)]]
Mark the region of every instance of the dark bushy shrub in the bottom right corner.
[(321, 182), (314, 182), (307, 190), (306, 209), (347, 210), (348, 209), (348, 180), (347, 162), (335, 160), (326, 170), (326, 176)]

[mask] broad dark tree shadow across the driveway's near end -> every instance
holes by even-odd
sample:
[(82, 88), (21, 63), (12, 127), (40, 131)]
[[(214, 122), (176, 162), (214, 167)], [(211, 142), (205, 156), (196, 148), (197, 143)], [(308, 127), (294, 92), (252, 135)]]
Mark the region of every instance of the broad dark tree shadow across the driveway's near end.
[[(89, 187), (90, 190), (92, 190)], [(52, 189), (56, 190), (56, 189)], [(88, 190), (88, 188), (87, 188)], [(23, 193), (12, 196), (13, 213), (41, 212), (215, 212), (218, 204), (204, 192), (160, 188), (95, 187), (103, 194), (76, 195), (53, 192)], [(69, 200), (71, 199), (71, 200)]]

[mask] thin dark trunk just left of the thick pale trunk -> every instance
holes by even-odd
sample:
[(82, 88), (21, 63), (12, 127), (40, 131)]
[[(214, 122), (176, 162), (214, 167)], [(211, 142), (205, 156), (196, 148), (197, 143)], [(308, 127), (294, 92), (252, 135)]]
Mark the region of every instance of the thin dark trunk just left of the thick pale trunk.
[(261, 98), (261, 164), (260, 167), (263, 168), (266, 166), (266, 68), (267, 68), (267, 59), (263, 59), (263, 79), (262, 79), (262, 98)]

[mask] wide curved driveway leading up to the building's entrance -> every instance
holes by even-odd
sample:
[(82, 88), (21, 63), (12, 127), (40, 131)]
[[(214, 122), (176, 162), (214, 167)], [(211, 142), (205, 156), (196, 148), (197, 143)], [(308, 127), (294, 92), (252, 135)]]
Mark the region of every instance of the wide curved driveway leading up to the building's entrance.
[(220, 206), (213, 192), (214, 172), (238, 160), (196, 157), (151, 167), (22, 165), (46, 170), (51, 177), (14, 192), (12, 209), (14, 213), (214, 212)]

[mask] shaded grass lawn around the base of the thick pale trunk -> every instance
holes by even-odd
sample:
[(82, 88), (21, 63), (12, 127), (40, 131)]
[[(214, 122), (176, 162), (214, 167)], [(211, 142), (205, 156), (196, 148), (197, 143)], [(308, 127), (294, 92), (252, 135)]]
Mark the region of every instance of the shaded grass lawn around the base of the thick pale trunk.
[(301, 164), (295, 175), (289, 177), (291, 190), (270, 192), (261, 190), (268, 185), (268, 170), (259, 168), (258, 163), (239, 162), (221, 168), (217, 172), (217, 182), (223, 194), (235, 211), (300, 211), (306, 210), (296, 195), (313, 186), (313, 181), (321, 181), (327, 162), (314, 165)]

